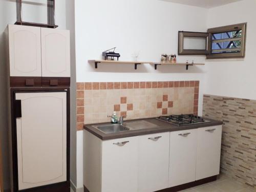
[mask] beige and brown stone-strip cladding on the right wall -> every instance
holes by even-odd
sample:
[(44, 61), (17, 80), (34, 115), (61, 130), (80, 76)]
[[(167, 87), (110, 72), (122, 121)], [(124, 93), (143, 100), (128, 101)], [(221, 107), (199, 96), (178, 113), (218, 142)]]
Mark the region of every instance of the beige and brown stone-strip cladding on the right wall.
[(256, 100), (204, 95), (203, 116), (223, 121), (221, 171), (256, 189)]

